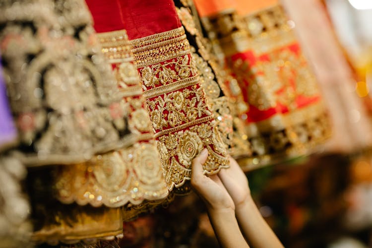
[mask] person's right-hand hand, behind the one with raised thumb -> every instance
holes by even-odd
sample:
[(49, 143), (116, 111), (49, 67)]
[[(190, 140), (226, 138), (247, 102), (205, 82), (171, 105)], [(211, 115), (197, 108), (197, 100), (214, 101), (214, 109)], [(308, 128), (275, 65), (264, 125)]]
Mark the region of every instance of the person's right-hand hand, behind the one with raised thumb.
[(221, 170), (218, 173), (218, 176), (233, 199), (235, 207), (238, 209), (248, 199), (250, 199), (248, 179), (237, 161), (232, 157), (230, 157), (229, 160), (230, 168)]

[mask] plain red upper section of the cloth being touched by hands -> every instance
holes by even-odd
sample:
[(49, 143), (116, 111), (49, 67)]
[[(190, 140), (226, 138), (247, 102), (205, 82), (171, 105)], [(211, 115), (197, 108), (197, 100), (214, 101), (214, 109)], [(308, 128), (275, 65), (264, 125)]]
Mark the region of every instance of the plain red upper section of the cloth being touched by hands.
[(181, 27), (173, 0), (118, 1), (129, 40)]

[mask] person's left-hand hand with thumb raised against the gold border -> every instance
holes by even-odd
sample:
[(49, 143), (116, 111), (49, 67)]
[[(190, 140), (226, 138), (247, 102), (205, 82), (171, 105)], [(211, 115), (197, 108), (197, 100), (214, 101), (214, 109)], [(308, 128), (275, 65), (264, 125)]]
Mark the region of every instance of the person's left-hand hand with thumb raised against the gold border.
[(203, 174), (202, 164), (208, 157), (208, 150), (204, 149), (191, 165), (191, 186), (203, 199), (209, 210), (235, 210), (234, 201), (217, 175)]

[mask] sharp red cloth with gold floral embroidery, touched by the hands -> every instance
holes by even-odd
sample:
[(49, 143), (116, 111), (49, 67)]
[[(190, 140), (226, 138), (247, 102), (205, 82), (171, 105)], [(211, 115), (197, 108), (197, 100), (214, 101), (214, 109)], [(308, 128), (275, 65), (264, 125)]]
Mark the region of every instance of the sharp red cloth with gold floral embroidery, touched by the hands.
[[(229, 166), (213, 110), (206, 103), (185, 29), (171, 0), (121, 0), (143, 96), (169, 190), (189, 190), (191, 161), (203, 148), (204, 173)], [(159, 11), (161, 10), (161, 11)]]

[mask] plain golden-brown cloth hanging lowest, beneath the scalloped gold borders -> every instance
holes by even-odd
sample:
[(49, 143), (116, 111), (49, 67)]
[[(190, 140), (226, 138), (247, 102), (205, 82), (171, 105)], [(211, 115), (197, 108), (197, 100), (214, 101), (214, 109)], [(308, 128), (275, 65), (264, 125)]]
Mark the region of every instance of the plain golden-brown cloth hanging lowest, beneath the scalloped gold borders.
[[(62, 204), (61, 204), (62, 205)], [(113, 240), (123, 235), (120, 208), (94, 208), (91, 206), (64, 205), (48, 209), (43, 226), (32, 235), (36, 243), (58, 245), (80, 241)]]

